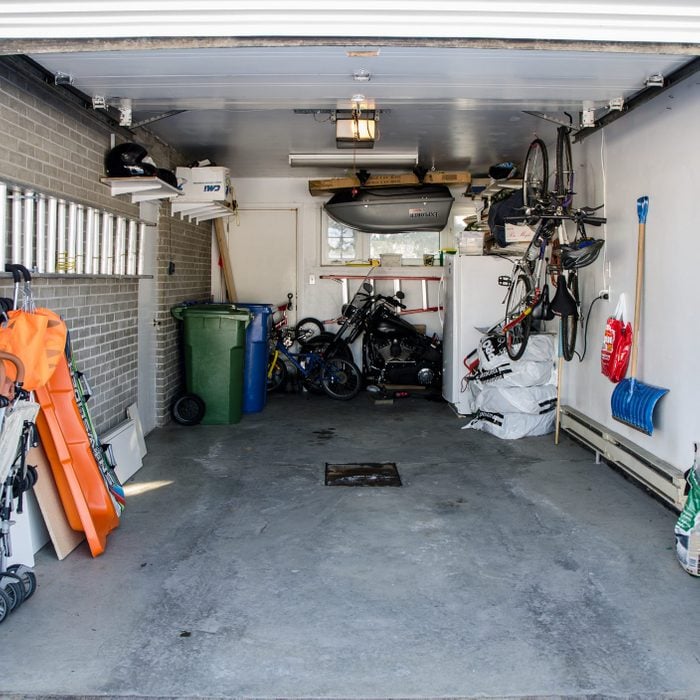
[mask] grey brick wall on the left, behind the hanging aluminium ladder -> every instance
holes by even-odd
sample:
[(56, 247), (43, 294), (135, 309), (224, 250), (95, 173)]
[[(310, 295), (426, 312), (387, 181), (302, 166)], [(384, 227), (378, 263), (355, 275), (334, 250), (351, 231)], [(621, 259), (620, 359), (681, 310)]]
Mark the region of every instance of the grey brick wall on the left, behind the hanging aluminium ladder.
[[(144, 144), (161, 167), (185, 163), (182, 155), (140, 129), (133, 136), (94, 118), (89, 109), (61, 98), (39, 73), (27, 73), (14, 57), (0, 58), (0, 179), (48, 195), (64, 196), (114, 214), (138, 218), (138, 205), (112, 197), (100, 182), (110, 134), (117, 142)], [(170, 307), (185, 299), (206, 299), (211, 289), (211, 226), (180, 221), (161, 205), (155, 269), (158, 425), (179, 390), (177, 325)], [(168, 262), (175, 274), (168, 275)], [(20, 262), (20, 261), (15, 261)], [(148, 272), (148, 271), (147, 271)], [(71, 330), (78, 364), (94, 391), (92, 415), (104, 432), (124, 419), (137, 400), (138, 279), (105, 275), (35, 275), (37, 301), (60, 313)], [(0, 295), (12, 296), (12, 280), (0, 271)]]

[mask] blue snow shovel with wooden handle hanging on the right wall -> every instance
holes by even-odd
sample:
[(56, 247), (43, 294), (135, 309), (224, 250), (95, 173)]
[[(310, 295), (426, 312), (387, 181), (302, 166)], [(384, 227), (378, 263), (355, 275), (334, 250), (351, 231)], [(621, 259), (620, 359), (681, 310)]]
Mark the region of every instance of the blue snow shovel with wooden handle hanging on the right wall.
[(635, 430), (651, 435), (654, 430), (653, 413), (658, 400), (668, 389), (645, 384), (637, 379), (637, 351), (639, 348), (639, 321), (642, 307), (642, 280), (644, 277), (644, 234), (647, 223), (649, 197), (637, 200), (639, 240), (637, 242), (637, 288), (634, 299), (634, 324), (630, 376), (623, 379), (613, 391), (610, 401), (615, 420), (626, 423)]

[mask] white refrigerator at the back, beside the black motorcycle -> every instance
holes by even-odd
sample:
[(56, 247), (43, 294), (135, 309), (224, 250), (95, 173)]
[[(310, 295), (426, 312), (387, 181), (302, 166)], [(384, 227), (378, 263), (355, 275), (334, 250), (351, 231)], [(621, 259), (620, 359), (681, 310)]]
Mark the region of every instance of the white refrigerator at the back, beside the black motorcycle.
[[(471, 412), (464, 358), (481, 338), (477, 328), (491, 327), (505, 313), (507, 287), (499, 275), (509, 275), (511, 259), (497, 255), (446, 255), (442, 280), (442, 396), (456, 413)], [(473, 358), (472, 358), (473, 359)]]

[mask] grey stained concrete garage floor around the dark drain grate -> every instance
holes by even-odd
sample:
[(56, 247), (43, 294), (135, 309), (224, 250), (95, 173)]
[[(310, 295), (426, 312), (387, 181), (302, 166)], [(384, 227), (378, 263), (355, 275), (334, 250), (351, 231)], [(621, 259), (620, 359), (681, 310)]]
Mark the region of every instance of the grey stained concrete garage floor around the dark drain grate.
[[(276, 395), (148, 438), (107, 552), (40, 552), (5, 695), (699, 697), (676, 515), (568, 438)], [(392, 461), (401, 488), (323, 485)]]

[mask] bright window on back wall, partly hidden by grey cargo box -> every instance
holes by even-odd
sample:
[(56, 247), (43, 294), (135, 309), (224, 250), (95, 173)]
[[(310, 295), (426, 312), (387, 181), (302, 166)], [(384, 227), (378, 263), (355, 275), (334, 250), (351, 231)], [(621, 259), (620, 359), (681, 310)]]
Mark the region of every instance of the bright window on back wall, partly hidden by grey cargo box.
[(382, 253), (398, 253), (404, 264), (422, 265), (423, 255), (440, 249), (437, 231), (409, 231), (407, 233), (362, 233), (334, 221), (325, 212), (321, 230), (323, 265), (367, 261)]

